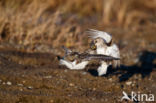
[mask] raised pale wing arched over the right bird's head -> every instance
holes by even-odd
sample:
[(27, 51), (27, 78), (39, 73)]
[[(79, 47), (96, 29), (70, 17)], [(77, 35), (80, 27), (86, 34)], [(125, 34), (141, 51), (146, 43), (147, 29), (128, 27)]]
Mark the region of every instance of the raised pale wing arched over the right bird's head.
[(95, 29), (89, 29), (86, 32), (89, 33), (89, 37), (93, 39), (102, 38), (106, 43), (110, 43), (112, 40), (112, 35), (107, 32), (103, 32)]

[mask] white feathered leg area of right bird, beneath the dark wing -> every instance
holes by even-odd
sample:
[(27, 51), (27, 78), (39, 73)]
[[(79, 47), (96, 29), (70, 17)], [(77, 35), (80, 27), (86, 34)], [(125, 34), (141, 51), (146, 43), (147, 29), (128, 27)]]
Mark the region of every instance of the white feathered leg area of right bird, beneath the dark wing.
[(108, 64), (106, 62), (102, 61), (101, 66), (98, 67), (98, 70), (97, 70), (98, 75), (102, 76), (102, 75), (106, 74), (107, 73), (107, 67), (108, 67)]

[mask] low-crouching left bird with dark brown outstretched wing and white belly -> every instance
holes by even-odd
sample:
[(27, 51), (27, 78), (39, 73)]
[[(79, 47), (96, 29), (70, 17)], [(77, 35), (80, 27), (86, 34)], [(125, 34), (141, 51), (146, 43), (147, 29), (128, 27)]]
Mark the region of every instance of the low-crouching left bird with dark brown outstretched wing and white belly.
[[(87, 52), (80, 53), (74, 52), (65, 46), (62, 47), (65, 51), (65, 56), (63, 58), (59, 57), (60, 65), (65, 65), (67, 68), (71, 70), (81, 70), (88, 65), (88, 63), (92, 60), (98, 61), (112, 61), (119, 60), (120, 58), (114, 58), (107, 55), (101, 54), (89, 54)], [(71, 59), (72, 58), (72, 59)]]

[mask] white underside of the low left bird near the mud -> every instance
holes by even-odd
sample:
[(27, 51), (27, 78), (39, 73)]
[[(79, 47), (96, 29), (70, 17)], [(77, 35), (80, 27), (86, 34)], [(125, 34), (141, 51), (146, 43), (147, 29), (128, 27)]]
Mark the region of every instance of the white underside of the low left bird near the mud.
[(76, 60), (73, 62), (61, 59), (60, 60), (60, 65), (65, 65), (67, 68), (72, 69), (72, 70), (81, 70), (84, 69), (86, 67), (86, 65), (88, 64), (89, 61), (82, 61), (78, 64), (76, 64)]

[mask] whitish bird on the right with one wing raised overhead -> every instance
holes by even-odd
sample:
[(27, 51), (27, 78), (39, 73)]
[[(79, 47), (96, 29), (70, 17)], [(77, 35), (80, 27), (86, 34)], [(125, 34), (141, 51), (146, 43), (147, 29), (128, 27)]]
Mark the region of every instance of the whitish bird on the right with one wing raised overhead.
[[(118, 46), (113, 43), (112, 35), (95, 29), (89, 29), (88, 37), (93, 39), (91, 42), (91, 49), (96, 51), (96, 54), (103, 54), (107, 56), (112, 56), (114, 58), (120, 58), (120, 51)], [(120, 66), (119, 60), (112, 60), (111, 62), (101, 61), (101, 65), (98, 67), (98, 75), (102, 76), (107, 73), (107, 68), (112, 65), (114, 68)]]

